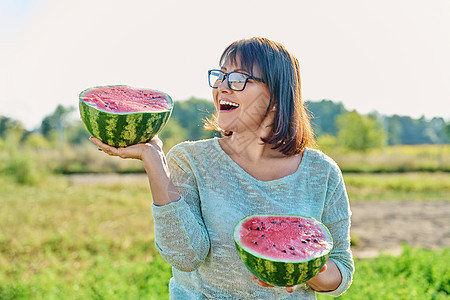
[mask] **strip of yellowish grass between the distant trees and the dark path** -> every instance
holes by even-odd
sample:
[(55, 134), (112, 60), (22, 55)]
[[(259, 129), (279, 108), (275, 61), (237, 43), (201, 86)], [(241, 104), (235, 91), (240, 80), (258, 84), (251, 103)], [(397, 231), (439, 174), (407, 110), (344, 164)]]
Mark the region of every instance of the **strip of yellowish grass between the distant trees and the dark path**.
[[(344, 173), (450, 173), (450, 145), (391, 146), (367, 152), (324, 149)], [(91, 142), (60, 145), (56, 148), (30, 146), (2, 148), (0, 174), (10, 174), (18, 182), (36, 183), (42, 173), (136, 173), (142, 163), (109, 157)]]

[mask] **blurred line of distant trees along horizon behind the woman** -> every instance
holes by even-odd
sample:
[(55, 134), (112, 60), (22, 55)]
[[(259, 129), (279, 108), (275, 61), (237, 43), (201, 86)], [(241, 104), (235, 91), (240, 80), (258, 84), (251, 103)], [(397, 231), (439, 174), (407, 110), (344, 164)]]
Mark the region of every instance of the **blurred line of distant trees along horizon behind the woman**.
[[(408, 116), (384, 116), (377, 112), (367, 115), (347, 110), (341, 102), (331, 100), (306, 101), (319, 146), (341, 146), (351, 150), (367, 150), (386, 145), (448, 144), (450, 122), (435, 117), (413, 119)], [(203, 120), (215, 111), (211, 101), (190, 98), (176, 101), (171, 119), (160, 133), (166, 147), (185, 140), (218, 136), (203, 129)], [(58, 105), (46, 116), (40, 127), (26, 130), (23, 124), (0, 116), (0, 146), (18, 145), (50, 148), (61, 143), (80, 144), (89, 133), (78, 115), (78, 109)]]

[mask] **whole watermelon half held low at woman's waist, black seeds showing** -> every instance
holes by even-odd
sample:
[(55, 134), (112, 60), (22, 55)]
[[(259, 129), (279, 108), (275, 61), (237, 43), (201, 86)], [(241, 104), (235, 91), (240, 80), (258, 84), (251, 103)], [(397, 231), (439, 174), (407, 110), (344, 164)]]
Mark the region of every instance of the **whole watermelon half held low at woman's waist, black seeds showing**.
[(316, 276), (333, 247), (328, 229), (314, 218), (251, 215), (234, 230), (237, 252), (261, 281), (293, 286)]

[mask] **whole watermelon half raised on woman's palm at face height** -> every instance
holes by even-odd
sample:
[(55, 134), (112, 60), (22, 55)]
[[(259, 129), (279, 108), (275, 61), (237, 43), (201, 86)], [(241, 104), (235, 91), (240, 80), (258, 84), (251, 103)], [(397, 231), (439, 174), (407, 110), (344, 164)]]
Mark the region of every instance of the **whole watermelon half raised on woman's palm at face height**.
[(79, 95), (80, 115), (89, 133), (102, 142), (125, 147), (147, 142), (172, 113), (169, 95), (125, 85), (98, 86)]

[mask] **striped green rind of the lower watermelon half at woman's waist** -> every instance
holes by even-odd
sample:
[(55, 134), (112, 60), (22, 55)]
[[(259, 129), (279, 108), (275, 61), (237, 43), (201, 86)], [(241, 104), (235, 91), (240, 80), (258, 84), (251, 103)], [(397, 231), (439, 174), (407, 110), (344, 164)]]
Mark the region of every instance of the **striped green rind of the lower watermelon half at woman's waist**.
[[(321, 226), (326, 232), (329, 238), (329, 245), (326, 251), (320, 253), (320, 255), (315, 255), (307, 259), (302, 260), (277, 260), (269, 257), (262, 257), (262, 255), (258, 254), (255, 251), (247, 249), (243, 246), (239, 241), (239, 228), (241, 228), (241, 224), (245, 222), (248, 218), (260, 216), (260, 217), (284, 217), (284, 216), (292, 216), (292, 217), (301, 217), (305, 219), (312, 219), (316, 224)], [(290, 214), (255, 214), (250, 215), (243, 218), (239, 223), (236, 224), (234, 228), (234, 243), (236, 245), (237, 253), (242, 261), (242, 263), (246, 266), (246, 268), (260, 279), (262, 282), (265, 282), (274, 286), (294, 286), (298, 284), (302, 284), (316, 276), (320, 270), (323, 268), (325, 263), (327, 262), (331, 249), (333, 248), (333, 238), (331, 236), (328, 228), (323, 225), (321, 222), (317, 221), (312, 217), (304, 217), (299, 215), (290, 215)]]

